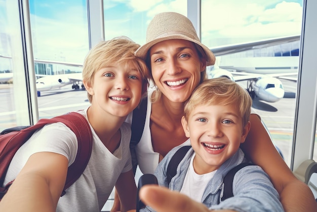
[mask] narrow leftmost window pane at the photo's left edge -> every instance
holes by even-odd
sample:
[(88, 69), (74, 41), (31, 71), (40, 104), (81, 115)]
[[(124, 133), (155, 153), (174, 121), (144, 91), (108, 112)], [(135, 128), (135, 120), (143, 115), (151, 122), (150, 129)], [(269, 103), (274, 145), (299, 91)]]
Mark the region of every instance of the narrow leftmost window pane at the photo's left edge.
[[(23, 80), (21, 71), (24, 71), (20, 56), (22, 46), (19, 30), (18, 2), (0, 1), (0, 131), (21, 124), (17, 121), (17, 114), (20, 113), (16, 111), (18, 99), (14, 95), (19, 89), (25, 90), (25, 82), (19, 84), (20, 80)], [(28, 117), (27, 114), (25, 116)], [(24, 124), (28, 122), (27, 119)]]

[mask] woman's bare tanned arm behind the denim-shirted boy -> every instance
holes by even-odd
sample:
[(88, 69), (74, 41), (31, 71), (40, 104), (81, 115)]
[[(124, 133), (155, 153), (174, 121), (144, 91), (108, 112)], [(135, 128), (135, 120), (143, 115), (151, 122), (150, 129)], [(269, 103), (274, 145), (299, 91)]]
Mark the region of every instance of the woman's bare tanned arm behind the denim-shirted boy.
[(285, 211), (317, 211), (309, 187), (299, 181), (272, 144), (261, 120), (250, 116), (251, 129), (241, 148), (252, 162), (261, 166), (280, 194)]

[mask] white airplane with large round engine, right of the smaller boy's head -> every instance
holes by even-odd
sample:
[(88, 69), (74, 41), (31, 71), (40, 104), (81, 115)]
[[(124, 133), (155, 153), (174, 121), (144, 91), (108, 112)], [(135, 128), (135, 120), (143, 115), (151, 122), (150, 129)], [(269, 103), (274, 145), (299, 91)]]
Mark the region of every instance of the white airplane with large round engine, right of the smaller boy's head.
[[(267, 102), (276, 102), (284, 97), (285, 90), (277, 78), (297, 81), (299, 57), (232, 57), (231, 63), (223, 64), (222, 55), (264, 48), (278, 44), (299, 41), (300, 36), (265, 39), (255, 42), (226, 45), (212, 49), (216, 64), (207, 67), (208, 78), (226, 77), (235, 82), (248, 81), (247, 91), (252, 99), (258, 97)], [(264, 59), (264, 60), (263, 60)], [(221, 64), (221, 65), (220, 65)], [(228, 65), (234, 64), (234, 65)], [(269, 67), (270, 64), (279, 67)], [(261, 66), (261, 67), (259, 67)]]

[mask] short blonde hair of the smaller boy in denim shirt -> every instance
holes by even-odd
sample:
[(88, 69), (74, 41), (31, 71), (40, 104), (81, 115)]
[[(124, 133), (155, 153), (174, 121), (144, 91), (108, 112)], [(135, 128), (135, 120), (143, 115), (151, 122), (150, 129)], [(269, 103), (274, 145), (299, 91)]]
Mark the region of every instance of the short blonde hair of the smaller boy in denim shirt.
[(252, 106), (252, 99), (248, 91), (225, 77), (205, 80), (186, 101), (184, 117), (188, 121), (190, 112), (200, 105), (227, 105), (231, 103), (235, 103), (239, 107), (243, 125), (245, 126), (250, 119)]

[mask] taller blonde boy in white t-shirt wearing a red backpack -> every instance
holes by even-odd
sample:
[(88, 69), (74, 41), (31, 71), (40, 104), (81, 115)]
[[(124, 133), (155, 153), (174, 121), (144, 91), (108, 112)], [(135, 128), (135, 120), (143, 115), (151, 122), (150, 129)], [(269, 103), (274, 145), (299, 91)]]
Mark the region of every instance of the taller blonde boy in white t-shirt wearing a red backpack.
[(147, 87), (147, 67), (134, 56), (138, 47), (116, 38), (97, 44), (85, 59), (83, 83), (91, 105), (78, 113), (91, 125), (93, 150), (80, 178), (60, 197), (77, 139), (62, 123), (46, 125), (15, 154), (4, 184), (16, 180), (0, 211), (100, 211), (114, 185), (123, 211), (135, 209), (131, 129), (124, 121)]

